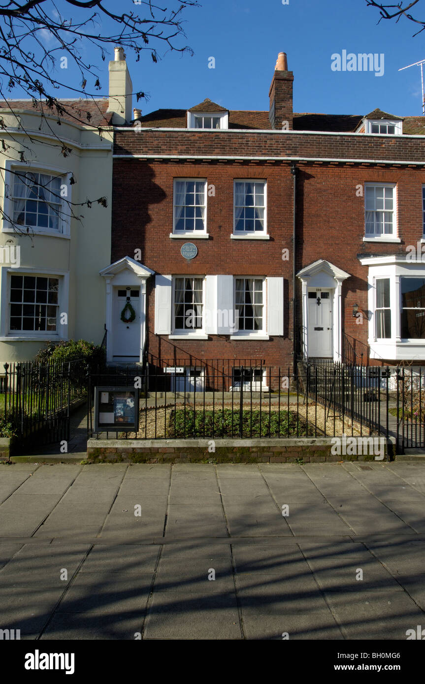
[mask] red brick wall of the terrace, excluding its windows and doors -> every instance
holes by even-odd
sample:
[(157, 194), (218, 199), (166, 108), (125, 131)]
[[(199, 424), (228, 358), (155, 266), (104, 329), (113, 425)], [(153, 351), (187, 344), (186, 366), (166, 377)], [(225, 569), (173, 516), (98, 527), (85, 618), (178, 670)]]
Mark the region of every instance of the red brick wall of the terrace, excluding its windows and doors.
[[(274, 101), (280, 98), (280, 121), (285, 114), (283, 109), (287, 109), (289, 103), (292, 109), (292, 80), (289, 78), (292, 73), (276, 72), (276, 75), (270, 101), (272, 96)], [(283, 90), (280, 94), (276, 91), (276, 95), (274, 88)], [(148, 127), (149, 120), (143, 125)], [(422, 132), (423, 121), (415, 119), (415, 125)], [(342, 334), (345, 333), (355, 350), (359, 354), (363, 352), (364, 360), (368, 360), (368, 319), (371, 315), (368, 311), (368, 267), (361, 265), (359, 257), (385, 254), (403, 257), (407, 246), (416, 246), (422, 238), (425, 137), (355, 134), (352, 124), (343, 133), (317, 130), (286, 133), (271, 129), (272, 124), (269, 131), (117, 129), (112, 262), (125, 256), (134, 258), (135, 250), (140, 249), (141, 263), (158, 274), (258, 275), (284, 279), (282, 336), (271, 336), (268, 341), (231, 340), (229, 336), (220, 335), (210, 336), (207, 341), (173, 341), (168, 336), (154, 334), (155, 278), (150, 278), (146, 328), (150, 331), (149, 351), (155, 356), (187, 356), (188, 363), (190, 356), (195, 360), (250, 358), (265, 360), (266, 365), (273, 368), (292, 366), (294, 332), (297, 332), (292, 325), (294, 179), (291, 164), (295, 163), (296, 273), (318, 259), (324, 259), (350, 274), (342, 284)], [(196, 258), (190, 263), (181, 257), (183, 241), (169, 237), (173, 230), (173, 179), (176, 178), (206, 179), (209, 187), (214, 186), (214, 196), (207, 197), (209, 239), (194, 239), (187, 235), (187, 241), (194, 239), (198, 248)], [(267, 233), (270, 239), (231, 239), (235, 179), (267, 182)], [(363, 241), (365, 183), (396, 184), (400, 242)], [(282, 250), (285, 249), (288, 250), (287, 259), (283, 259)], [(359, 312), (364, 316), (362, 325), (357, 324), (352, 315), (354, 304), (358, 304)], [(302, 323), (301, 284), (296, 278), (297, 328)], [(391, 358), (381, 358), (373, 363), (387, 362), (396, 363)]]

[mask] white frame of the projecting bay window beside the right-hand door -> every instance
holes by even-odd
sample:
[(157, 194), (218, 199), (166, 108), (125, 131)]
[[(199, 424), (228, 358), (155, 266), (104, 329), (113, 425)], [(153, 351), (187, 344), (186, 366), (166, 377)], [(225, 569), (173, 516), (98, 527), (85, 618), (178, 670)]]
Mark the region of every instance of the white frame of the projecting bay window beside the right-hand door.
[[(368, 266), (368, 308), (370, 357), (385, 360), (411, 360), (423, 358), (425, 339), (402, 339), (401, 337), (401, 278), (425, 278), (425, 263), (421, 255), (416, 260), (407, 261), (401, 255), (387, 257), (364, 257), (363, 266)], [(391, 338), (376, 338), (376, 280), (389, 278), (389, 297), (391, 306)]]

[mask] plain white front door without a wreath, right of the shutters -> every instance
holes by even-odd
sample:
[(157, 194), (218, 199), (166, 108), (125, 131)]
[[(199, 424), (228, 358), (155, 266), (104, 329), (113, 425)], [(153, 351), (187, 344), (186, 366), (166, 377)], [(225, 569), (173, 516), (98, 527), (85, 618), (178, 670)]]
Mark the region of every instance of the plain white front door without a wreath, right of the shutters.
[(308, 356), (333, 357), (333, 290), (309, 289), (307, 294)]

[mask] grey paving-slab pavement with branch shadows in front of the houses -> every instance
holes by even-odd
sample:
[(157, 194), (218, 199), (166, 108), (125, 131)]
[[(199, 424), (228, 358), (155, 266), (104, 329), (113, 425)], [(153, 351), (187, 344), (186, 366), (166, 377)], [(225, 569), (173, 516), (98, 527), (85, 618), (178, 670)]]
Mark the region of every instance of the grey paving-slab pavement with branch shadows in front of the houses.
[(28, 640), (406, 640), (425, 465), (0, 466), (0, 629)]

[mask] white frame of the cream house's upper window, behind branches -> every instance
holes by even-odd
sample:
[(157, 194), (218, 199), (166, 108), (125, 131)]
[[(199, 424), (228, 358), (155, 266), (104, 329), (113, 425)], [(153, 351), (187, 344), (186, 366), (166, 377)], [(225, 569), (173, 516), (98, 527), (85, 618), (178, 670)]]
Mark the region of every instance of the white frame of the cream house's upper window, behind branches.
[[(13, 217), (14, 214), (14, 201), (13, 201), (13, 196), (14, 196), (14, 179), (15, 179), (15, 174), (14, 172), (19, 172), (19, 173), (44, 173), (44, 174), (50, 174), (51, 176), (62, 176), (62, 183), (61, 185), (68, 185), (68, 197), (66, 198), (68, 201), (72, 202), (72, 185), (70, 185), (68, 181), (68, 176), (72, 175), (72, 172), (69, 170), (66, 170), (64, 168), (60, 168), (57, 166), (47, 166), (45, 164), (40, 164), (36, 163), (34, 165), (29, 166), (27, 163), (23, 162), (18, 162), (18, 161), (13, 161), (12, 159), (8, 159), (5, 161), (5, 178), (6, 178), (6, 184), (8, 185), (8, 197), (5, 196), (5, 189), (3, 190), (4, 192), (4, 198), (3, 198), (3, 207), (4, 207), (4, 213), (5, 215), (8, 215), (10, 217)], [(43, 228), (42, 226), (29, 226), (29, 235), (49, 235), (52, 237), (62, 237), (66, 239), (70, 239), (70, 216), (63, 215), (64, 213), (66, 214), (66, 204), (62, 200), (62, 205), (60, 208), (60, 211), (62, 212), (62, 215), (59, 217), (59, 228), (57, 231), (55, 231), (54, 228)], [(2, 228), (1, 232), (2, 233), (18, 233), (19, 231), (16, 230), (14, 227), (14, 224), (12, 224), (10, 221), (3, 219), (2, 222)], [(20, 228), (27, 228), (27, 226), (20, 226)]]

